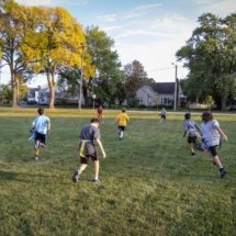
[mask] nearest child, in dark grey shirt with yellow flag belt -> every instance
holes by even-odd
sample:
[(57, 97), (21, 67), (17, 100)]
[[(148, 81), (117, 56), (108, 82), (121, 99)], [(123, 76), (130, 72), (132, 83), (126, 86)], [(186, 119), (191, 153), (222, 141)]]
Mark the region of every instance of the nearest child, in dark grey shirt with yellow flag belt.
[(100, 183), (101, 180), (99, 179), (99, 157), (95, 150), (95, 144), (99, 145), (103, 158), (106, 157), (105, 151), (103, 149), (101, 143), (101, 134), (99, 130), (100, 121), (99, 119), (92, 119), (90, 124), (87, 124), (82, 127), (80, 135), (79, 135), (79, 158), (80, 158), (80, 166), (79, 169), (72, 176), (72, 181), (76, 183), (79, 180), (82, 171), (87, 168), (89, 164), (89, 158), (91, 158), (94, 162), (94, 179), (92, 180), (93, 183)]

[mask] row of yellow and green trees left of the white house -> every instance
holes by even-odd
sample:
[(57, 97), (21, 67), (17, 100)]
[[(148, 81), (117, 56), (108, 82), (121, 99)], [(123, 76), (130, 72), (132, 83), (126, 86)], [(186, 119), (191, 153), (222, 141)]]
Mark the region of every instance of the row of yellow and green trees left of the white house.
[(14, 108), (22, 85), (38, 74), (47, 78), (49, 108), (54, 108), (56, 87), (67, 87), (71, 94), (78, 94), (81, 78), (85, 101), (93, 92), (98, 102), (108, 104), (134, 97), (141, 83), (148, 81), (137, 60), (125, 66), (128, 74), (122, 69), (114, 41), (105, 32), (98, 26), (83, 29), (63, 8), (1, 1), (0, 55), (1, 67), (10, 68), (11, 91), (5, 94), (12, 94)]

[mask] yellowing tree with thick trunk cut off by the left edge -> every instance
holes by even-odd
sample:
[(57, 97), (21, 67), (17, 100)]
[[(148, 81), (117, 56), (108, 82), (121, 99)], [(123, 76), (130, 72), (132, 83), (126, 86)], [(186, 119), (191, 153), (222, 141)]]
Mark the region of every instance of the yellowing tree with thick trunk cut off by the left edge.
[(19, 77), (26, 70), (21, 46), (24, 43), (26, 8), (13, 0), (3, 0), (0, 5), (0, 47), (2, 65), (10, 68), (12, 105), (18, 106)]

